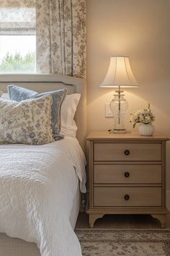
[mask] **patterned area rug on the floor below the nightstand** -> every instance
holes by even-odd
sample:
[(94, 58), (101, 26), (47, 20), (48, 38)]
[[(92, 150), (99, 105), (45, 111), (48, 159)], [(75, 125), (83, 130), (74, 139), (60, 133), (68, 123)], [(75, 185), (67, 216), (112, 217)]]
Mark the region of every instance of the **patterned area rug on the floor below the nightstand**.
[(84, 256), (170, 256), (170, 229), (76, 229)]

